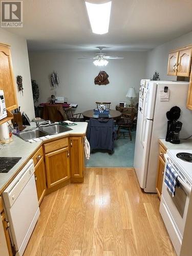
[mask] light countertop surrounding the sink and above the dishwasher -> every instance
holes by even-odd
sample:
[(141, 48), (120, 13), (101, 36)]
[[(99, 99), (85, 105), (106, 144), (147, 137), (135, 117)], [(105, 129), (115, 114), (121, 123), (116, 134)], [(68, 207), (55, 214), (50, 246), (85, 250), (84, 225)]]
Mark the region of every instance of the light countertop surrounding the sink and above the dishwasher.
[[(51, 135), (50, 139), (45, 140), (44, 142), (40, 141), (30, 143), (13, 135), (13, 141), (10, 142), (8, 145), (4, 145), (3, 149), (0, 150), (0, 157), (22, 157), (22, 159), (20, 159), (18, 163), (8, 173), (0, 173), (0, 195), (5, 190), (5, 188), (11, 183), (13, 178), (17, 175), (18, 170), (25, 165), (26, 161), (33, 156), (33, 154), (38, 150), (42, 143), (46, 143), (52, 139), (68, 135), (85, 135), (88, 123), (76, 123), (77, 125), (70, 126), (70, 128), (72, 129), (71, 131), (60, 133), (57, 135)], [(35, 127), (34, 123), (31, 123), (31, 126), (28, 126), (28, 128), (25, 131), (32, 129), (32, 127)]]

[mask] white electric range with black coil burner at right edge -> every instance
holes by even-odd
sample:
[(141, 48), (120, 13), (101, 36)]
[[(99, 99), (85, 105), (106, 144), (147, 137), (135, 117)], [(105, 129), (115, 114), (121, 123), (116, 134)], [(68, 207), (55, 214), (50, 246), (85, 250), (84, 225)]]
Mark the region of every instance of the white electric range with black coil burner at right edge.
[[(178, 158), (178, 154), (191, 162)], [(164, 170), (160, 213), (177, 255), (186, 256), (189, 255), (186, 252), (192, 251), (192, 243), (189, 239), (192, 235), (192, 150), (167, 150), (164, 157), (165, 170), (167, 164), (172, 165), (179, 175), (180, 186), (176, 187), (173, 197), (164, 183)], [(190, 236), (188, 232), (191, 233)]]

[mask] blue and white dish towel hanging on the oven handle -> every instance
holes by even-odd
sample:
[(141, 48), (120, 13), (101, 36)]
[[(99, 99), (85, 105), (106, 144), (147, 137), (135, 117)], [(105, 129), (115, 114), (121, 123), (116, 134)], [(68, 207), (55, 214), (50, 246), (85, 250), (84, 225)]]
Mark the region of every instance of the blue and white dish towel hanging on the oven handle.
[(175, 171), (175, 169), (169, 163), (166, 165), (166, 173), (165, 173), (165, 180), (164, 183), (167, 186), (172, 196), (175, 196), (175, 188), (177, 185), (177, 177), (179, 175)]

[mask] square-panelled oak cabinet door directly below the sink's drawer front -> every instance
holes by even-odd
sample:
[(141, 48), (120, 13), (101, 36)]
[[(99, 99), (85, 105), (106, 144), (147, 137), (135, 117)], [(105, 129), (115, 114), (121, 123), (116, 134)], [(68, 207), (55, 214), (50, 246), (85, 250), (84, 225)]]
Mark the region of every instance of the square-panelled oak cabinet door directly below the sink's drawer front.
[(45, 155), (48, 188), (70, 179), (69, 157), (69, 147)]

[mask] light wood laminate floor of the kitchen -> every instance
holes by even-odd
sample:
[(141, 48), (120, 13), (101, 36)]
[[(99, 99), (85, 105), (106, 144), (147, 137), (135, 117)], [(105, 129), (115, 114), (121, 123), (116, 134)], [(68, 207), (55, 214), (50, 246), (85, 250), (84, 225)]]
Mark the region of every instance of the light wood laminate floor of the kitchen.
[(24, 255), (176, 255), (159, 203), (132, 168), (87, 168), (83, 184), (44, 198)]

